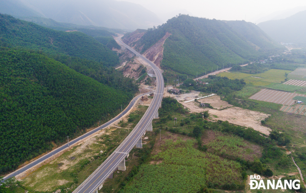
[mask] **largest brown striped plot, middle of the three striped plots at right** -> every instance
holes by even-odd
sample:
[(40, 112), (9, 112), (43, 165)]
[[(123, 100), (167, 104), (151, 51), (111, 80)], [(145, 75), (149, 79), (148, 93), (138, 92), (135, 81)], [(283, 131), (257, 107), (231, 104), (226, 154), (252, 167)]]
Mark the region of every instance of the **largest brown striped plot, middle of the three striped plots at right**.
[(262, 89), (258, 93), (251, 96), (249, 99), (291, 106), (294, 104), (295, 100), (293, 100), (292, 98), (295, 96), (306, 97), (305, 94), (296, 94), (296, 93), (289, 93), (278, 90)]

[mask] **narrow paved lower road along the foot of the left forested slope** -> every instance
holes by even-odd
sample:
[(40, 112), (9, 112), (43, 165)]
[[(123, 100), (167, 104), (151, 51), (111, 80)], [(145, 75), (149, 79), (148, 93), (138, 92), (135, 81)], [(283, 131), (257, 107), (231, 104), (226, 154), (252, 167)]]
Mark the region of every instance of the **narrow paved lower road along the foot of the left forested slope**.
[[(152, 92), (148, 92), (148, 93), (144, 93), (144, 94), (149, 94), (149, 93), (152, 93)], [(104, 123), (103, 125), (97, 127), (96, 129), (93, 129), (93, 130), (87, 132), (86, 134), (84, 134), (84, 135), (82, 135), (82, 136), (80, 136), (80, 137), (78, 137), (78, 138), (76, 138), (76, 139), (74, 139), (74, 140), (69, 141), (69, 145), (72, 145), (72, 144), (74, 144), (74, 143), (77, 143), (77, 142), (79, 142), (80, 140), (82, 140), (82, 139), (84, 139), (84, 138), (90, 136), (91, 134), (96, 133), (96, 132), (99, 131), (100, 129), (104, 129), (105, 127), (107, 127), (107, 126), (113, 124), (115, 121), (121, 119), (121, 115), (125, 115), (131, 108), (133, 108), (134, 101), (136, 101), (140, 96), (143, 96), (144, 94), (141, 94), (141, 95), (136, 96), (136, 97), (133, 99), (133, 101), (128, 105), (128, 107), (127, 107), (126, 109), (124, 109), (124, 111), (123, 111), (122, 113), (120, 113), (118, 116), (114, 117), (112, 120), (110, 120), (110, 121)], [(63, 151), (63, 150), (66, 149), (67, 147), (68, 147), (68, 143), (65, 144), (65, 145), (63, 145), (63, 146), (61, 146), (61, 147), (58, 147), (57, 149), (55, 149), (55, 150), (53, 150), (53, 151), (50, 151), (50, 152), (49, 152), (48, 154), (46, 154), (45, 156), (42, 156), (41, 158), (32, 161), (32, 162), (29, 163), (28, 165), (26, 165), (26, 166), (24, 166), (24, 167), (22, 167), (22, 168), (20, 168), (20, 169), (18, 169), (18, 170), (16, 170), (16, 171), (14, 171), (14, 172), (8, 174), (5, 178), (3, 178), (3, 181), (7, 180), (8, 178), (12, 178), (12, 177), (16, 176), (16, 175), (18, 175), (18, 174), (20, 174), (20, 173), (22, 173), (22, 172), (24, 172), (24, 171), (26, 171), (26, 170), (32, 168), (33, 166), (36, 166), (37, 164), (40, 164), (41, 162), (47, 160), (48, 158), (50, 158), (51, 156), (57, 154), (58, 152)], [(2, 181), (2, 182), (3, 182), (3, 181)]]

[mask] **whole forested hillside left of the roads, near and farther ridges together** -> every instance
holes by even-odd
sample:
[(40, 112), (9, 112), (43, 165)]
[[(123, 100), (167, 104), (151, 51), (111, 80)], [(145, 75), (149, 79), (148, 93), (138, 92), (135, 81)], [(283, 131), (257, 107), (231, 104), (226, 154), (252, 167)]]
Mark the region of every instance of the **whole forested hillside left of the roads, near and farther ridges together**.
[(99, 38), (0, 14), (0, 173), (109, 120), (133, 98), (138, 86), (112, 67), (113, 39)]

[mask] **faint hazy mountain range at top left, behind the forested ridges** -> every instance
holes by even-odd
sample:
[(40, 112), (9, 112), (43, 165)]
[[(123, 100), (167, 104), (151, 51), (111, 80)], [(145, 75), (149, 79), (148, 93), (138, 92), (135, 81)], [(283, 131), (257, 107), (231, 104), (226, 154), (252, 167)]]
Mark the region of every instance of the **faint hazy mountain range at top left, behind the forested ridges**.
[(156, 14), (141, 5), (114, 0), (2, 0), (0, 13), (116, 29), (148, 29), (162, 24)]

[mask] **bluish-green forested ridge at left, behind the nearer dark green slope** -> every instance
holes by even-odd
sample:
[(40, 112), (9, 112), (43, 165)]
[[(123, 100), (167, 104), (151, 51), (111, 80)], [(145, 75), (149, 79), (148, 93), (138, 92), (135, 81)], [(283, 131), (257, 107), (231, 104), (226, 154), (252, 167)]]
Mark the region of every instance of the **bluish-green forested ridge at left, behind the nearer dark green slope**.
[(22, 46), (47, 54), (66, 54), (115, 66), (119, 58), (112, 50), (80, 32), (62, 32), (0, 14), (2, 46)]

